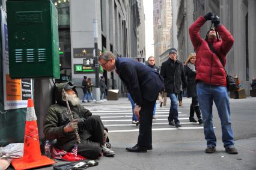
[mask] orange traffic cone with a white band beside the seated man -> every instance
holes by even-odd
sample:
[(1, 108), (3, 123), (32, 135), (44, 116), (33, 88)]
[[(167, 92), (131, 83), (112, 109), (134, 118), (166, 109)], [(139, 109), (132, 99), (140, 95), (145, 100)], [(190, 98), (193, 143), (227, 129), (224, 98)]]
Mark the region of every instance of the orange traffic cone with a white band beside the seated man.
[(41, 156), (37, 116), (35, 115), (34, 103), (28, 99), (28, 109), (26, 110), (26, 125), (24, 135), (24, 153), (20, 159), (13, 159), (11, 165), (14, 169), (31, 169), (55, 163), (49, 157)]

